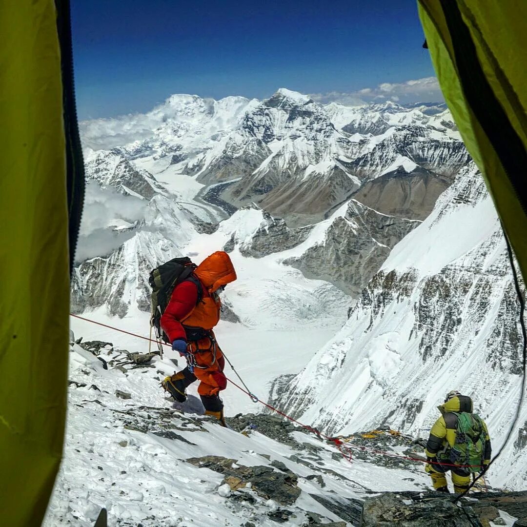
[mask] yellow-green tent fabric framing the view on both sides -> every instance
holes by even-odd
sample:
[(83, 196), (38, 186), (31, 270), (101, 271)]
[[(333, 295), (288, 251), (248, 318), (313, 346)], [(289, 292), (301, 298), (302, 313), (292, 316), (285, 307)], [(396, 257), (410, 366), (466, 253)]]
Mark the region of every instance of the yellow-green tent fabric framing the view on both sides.
[[(527, 3), (418, 0), (434, 67), (527, 278)], [(0, 3), (0, 518), (40, 525), (62, 455), (83, 169), (67, 0)]]

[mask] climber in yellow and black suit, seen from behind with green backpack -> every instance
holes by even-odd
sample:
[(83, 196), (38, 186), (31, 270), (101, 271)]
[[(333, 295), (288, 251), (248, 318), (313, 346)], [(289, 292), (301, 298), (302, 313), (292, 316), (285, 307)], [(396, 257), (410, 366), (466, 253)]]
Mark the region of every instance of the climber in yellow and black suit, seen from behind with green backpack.
[[(473, 413), (472, 399), (457, 391), (448, 392), (437, 407), (441, 417), (432, 426), (425, 454), (425, 471), (438, 492), (448, 491), (445, 473), (452, 472), (454, 492), (465, 492), (470, 476), (482, 472), (491, 460), (491, 440), (483, 419)], [(459, 466), (456, 466), (459, 465)]]

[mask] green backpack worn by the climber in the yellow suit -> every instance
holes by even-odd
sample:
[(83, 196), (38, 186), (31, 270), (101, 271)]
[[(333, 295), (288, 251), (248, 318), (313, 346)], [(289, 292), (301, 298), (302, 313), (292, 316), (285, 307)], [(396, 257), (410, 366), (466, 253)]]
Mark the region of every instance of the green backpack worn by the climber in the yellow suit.
[(448, 461), (455, 465), (464, 465), (463, 468), (467, 472), (481, 472), (486, 436), (481, 417), (469, 412), (451, 413), (457, 416), (456, 441)]

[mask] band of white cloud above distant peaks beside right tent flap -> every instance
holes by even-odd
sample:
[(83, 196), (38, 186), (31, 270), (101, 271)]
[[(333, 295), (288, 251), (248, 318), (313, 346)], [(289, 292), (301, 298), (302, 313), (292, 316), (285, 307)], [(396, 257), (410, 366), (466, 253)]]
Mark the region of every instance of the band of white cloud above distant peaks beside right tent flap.
[(424, 77), (406, 82), (383, 82), (374, 88), (363, 88), (356, 92), (313, 93), (313, 100), (327, 104), (337, 102), (346, 106), (357, 106), (372, 101), (391, 100), (401, 103), (442, 102), (443, 94), (436, 77)]

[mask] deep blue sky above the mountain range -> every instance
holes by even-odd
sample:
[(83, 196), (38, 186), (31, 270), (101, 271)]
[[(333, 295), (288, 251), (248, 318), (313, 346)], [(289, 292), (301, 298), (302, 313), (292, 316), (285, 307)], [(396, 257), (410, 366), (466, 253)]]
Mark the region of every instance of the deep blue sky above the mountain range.
[(80, 119), (145, 112), (172, 93), (441, 98), (404, 84), (434, 75), (415, 0), (75, 0), (72, 26)]

